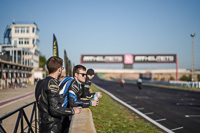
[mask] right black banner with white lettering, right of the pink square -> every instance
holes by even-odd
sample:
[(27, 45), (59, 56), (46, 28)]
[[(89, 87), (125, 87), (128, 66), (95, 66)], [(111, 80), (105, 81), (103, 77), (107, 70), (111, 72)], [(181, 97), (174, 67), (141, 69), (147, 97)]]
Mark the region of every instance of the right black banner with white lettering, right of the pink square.
[(176, 63), (176, 54), (134, 55), (134, 63)]

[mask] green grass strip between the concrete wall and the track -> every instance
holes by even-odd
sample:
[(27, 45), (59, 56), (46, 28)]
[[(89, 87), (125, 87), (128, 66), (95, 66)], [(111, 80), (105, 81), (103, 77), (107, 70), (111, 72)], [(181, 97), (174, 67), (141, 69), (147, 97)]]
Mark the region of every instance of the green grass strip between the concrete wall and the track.
[[(99, 91), (93, 85), (91, 89)], [(161, 133), (107, 94), (102, 95), (99, 105), (90, 108), (97, 133)]]

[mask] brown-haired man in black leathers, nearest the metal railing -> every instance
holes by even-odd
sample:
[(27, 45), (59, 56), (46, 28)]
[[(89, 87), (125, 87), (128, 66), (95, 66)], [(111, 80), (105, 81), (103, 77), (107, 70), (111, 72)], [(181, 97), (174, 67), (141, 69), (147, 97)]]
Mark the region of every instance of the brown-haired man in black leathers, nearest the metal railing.
[(59, 95), (57, 78), (62, 73), (63, 60), (51, 57), (47, 61), (49, 75), (37, 83), (35, 98), (39, 111), (39, 132), (60, 133), (62, 116), (69, 116), (81, 112), (81, 107), (63, 108)]

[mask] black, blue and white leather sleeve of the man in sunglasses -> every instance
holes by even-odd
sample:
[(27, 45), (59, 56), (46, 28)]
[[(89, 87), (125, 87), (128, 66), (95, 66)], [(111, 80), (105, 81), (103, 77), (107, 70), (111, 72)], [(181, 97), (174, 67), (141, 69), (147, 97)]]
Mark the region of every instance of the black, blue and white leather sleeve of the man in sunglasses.
[(83, 88), (81, 83), (74, 79), (69, 87), (69, 107), (81, 106), (87, 108), (92, 106), (91, 100), (81, 100)]

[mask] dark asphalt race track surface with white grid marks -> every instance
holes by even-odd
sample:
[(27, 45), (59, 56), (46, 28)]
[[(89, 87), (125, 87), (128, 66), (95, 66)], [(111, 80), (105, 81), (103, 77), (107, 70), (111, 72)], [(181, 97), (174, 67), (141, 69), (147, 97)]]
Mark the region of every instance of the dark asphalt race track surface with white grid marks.
[(92, 80), (117, 98), (175, 133), (200, 133), (200, 92)]

